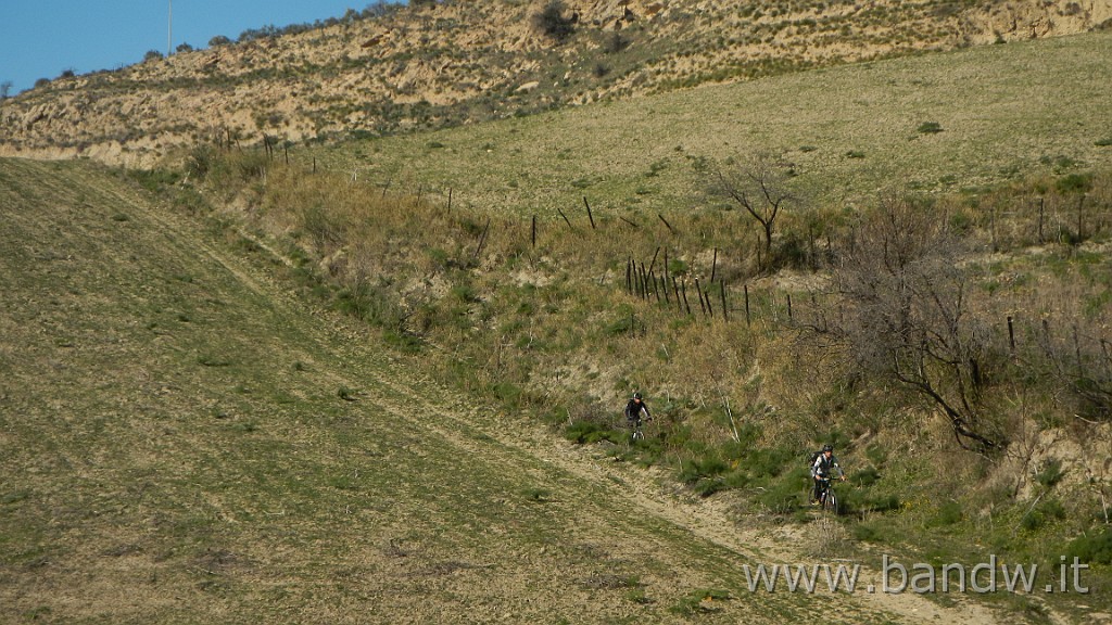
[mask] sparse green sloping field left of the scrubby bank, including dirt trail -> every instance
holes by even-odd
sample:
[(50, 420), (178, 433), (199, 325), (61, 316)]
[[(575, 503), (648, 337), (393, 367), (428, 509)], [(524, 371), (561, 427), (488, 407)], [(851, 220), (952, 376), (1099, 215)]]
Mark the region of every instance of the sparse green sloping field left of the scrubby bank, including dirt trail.
[(115, 172), (0, 160), (0, 215), (6, 621), (992, 618), (748, 592), (821, 536), (746, 535), (454, 396)]

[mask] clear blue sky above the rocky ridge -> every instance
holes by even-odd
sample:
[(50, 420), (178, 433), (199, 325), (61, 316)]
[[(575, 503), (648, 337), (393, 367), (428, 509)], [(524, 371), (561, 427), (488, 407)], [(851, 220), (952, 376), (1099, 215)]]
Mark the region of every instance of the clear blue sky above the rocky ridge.
[(88, 73), (166, 53), (172, 2), (172, 47), (205, 48), (222, 34), (285, 27), (361, 11), (374, 0), (0, 0), (0, 85), (9, 95), (64, 70)]

